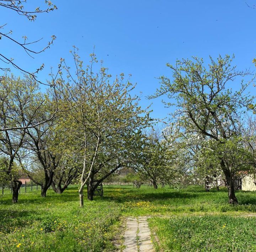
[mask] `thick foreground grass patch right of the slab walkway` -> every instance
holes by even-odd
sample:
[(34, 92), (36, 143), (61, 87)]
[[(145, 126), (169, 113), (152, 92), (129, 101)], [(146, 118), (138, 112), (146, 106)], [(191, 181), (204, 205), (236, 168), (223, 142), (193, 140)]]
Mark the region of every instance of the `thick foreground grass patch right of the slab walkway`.
[(150, 218), (160, 244), (156, 251), (256, 251), (255, 217)]

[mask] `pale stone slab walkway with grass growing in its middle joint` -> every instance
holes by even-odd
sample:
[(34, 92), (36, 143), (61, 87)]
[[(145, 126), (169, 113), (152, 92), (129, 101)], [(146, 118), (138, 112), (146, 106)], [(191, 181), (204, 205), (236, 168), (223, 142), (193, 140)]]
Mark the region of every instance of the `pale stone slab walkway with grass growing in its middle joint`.
[(123, 252), (155, 252), (147, 217), (127, 218)]

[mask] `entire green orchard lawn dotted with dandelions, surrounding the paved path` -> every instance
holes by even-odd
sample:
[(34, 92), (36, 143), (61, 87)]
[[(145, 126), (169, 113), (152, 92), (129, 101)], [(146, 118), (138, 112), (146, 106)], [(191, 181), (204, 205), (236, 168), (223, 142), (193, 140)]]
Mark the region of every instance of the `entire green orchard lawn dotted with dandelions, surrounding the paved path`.
[(236, 195), (240, 204), (231, 206), (225, 188), (104, 186), (102, 199), (85, 200), (80, 208), (77, 186), (62, 195), (48, 190), (46, 198), (39, 190), (21, 193), (17, 204), (6, 194), (0, 197), (0, 251), (114, 251), (128, 216), (152, 217), (159, 250), (255, 251), (256, 224), (249, 216), (256, 212), (256, 193)]

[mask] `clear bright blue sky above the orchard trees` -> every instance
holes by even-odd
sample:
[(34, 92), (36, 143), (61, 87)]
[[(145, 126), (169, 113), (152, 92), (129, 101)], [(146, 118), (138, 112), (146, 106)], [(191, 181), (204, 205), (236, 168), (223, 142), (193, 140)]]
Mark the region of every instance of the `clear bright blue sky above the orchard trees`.
[[(30, 6), (28, 0), (27, 6)], [(44, 1), (36, 1), (43, 7)], [(25, 17), (0, 9), (1, 23), (8, 23), (17, 39), (27, 35), (30, 40), (44, 37), (44, 45), (51, 35), (57, 40), (46, 52), (29, 58), (22, 50), (15, 50), (10, 42), (0, 41), (1, 52), (33, 71), (42, 62), (42, 80), (48, 78), (50, 67), (56, 69), (60, 57), (70, 59), (73, 45), (80, 49), (85, 63), (96, 46), (97, 58), (104, 61), (112, 75), (132, 74), (136, 91), (143, 92), (142, 105), (153, 102), (154, 117), (164, 117), (165, 109), (158, 100), (146, 100), (159, 86), (159, 77), (171, 73), (165, 66), (182, 57), (208, 58), (219, 54), (235, 54), (239, 69), (254, 70), (256, 54), (256, 9), (244, 0), (52, 0), (58, 10), (38, 15), (31, 23)], [(75, 4), (74, 4), (75, 3)], [(248, 0), (249, 5), (256, 0)], [(32, 5), (35, 7), (35, 5)], [(108, 56), (107, 56), (108, 55)], [(14, 71), (15, 74), (19, 74)], [(253, 89), (252, 89), (253, 90)]]

